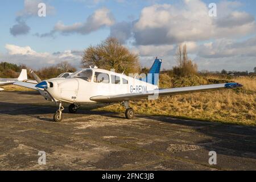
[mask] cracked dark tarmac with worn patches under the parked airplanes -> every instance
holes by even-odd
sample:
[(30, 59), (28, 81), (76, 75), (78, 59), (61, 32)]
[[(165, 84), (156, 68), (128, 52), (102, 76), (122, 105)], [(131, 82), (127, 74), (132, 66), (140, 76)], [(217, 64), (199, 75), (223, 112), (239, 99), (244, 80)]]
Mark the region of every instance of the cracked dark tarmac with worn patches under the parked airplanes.
[(256, 127), (67, 109), (56, 123), (56, 110), (36, 92), (0, 92), (0, 170), (256, 170)]

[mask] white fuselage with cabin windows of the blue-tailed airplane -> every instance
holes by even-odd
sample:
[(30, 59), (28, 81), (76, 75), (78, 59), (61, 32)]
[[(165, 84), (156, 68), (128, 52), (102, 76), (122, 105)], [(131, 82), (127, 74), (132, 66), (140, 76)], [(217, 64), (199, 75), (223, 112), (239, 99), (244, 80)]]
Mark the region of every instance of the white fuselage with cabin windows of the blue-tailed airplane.
[[(83, 75), (81, 72), (86, 72)], [(90, 73), (88, 75), (88, 72)], [(86, 77), (87, 76), (87, 77)], [(95, 96), (113, 96), (127, 93), (141, 93), (158, 89), (158, 86), (104, 69), (83, 69), (66, 79), (47, 80), (47, 92), (59, 102), (83, 104)]]

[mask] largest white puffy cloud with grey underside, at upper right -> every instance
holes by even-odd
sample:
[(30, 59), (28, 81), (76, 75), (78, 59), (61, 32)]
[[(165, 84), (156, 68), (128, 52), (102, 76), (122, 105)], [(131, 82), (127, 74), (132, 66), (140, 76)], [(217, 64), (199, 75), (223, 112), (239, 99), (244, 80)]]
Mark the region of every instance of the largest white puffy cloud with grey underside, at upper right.
[[(179, 44), (209, 39), (238, 38), (256, 31), (254, 16), (238, 11), (239, 2), (222, 1), (217, 5), (217, 18), (208, 15), (208, 5), (200, 0), (155, 4), (144, 7), (133, 23), (136, 45)], [(116, 24), (113, 31), (122, 32)], [(122, 35), (122, 34), (118, 34)], [(123, 35), (123, 39), (126, 34)], [(122, 38), (119, 38), (122, 39)]]

